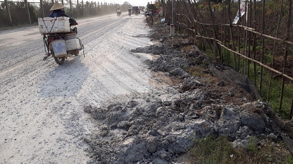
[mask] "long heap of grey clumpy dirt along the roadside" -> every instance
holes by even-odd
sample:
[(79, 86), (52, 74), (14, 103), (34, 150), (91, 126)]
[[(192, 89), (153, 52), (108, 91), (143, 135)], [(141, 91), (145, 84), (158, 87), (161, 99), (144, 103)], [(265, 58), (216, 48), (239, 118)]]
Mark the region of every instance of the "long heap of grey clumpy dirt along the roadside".
[[(266, 103), (255, 101), (259, 95), (249, 79), (212, 63), (192, 39), (178, 35), (179, 39), (171, 39), (167, 28), (160, 25), (152, 30), (150, 37), (159, 44), (131, 52), (156, 55), (157, 59), (145, 61), (148, 68), (182, 83), (148, 94), (114, 97), (102, 107), (85, 107), (100, 127), (83, 136), (93, 159), (88, 163), (171, 164), (193, 146), (193, 139), (207, 135), (227, 135), (234, 146), (245, 146), (250, 137), (279, 140), (292, 135)], [(181, 50), (187, 46), (188, 51)], [(202, 70), (206, 75), (187, 72), (199, 65), (207, 68)], [(239, 79), (221, 78), (227, 72)]]

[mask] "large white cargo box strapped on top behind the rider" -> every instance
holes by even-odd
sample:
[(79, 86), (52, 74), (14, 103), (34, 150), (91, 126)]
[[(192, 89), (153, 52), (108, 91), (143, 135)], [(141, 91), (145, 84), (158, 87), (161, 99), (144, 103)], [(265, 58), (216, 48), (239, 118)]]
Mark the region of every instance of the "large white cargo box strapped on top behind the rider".
[(41, 34), (69, 33), (70, 25), (67, 17), (45, 17), (38, 18)]

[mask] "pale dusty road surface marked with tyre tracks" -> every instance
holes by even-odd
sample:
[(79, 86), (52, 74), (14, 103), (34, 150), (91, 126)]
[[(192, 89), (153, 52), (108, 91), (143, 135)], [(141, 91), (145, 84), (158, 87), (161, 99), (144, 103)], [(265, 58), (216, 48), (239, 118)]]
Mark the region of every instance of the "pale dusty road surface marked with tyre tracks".
[[(84, 112), (111, 97), (146, 93), (152, 44), (143, 15), (78, 19), (84, 54), (43, 61), (37, 26), (0, 31), (0, 164), (86, 164), (82, 135), (96, 127)], [(145, 57), (145, 58), (144, 58)]]

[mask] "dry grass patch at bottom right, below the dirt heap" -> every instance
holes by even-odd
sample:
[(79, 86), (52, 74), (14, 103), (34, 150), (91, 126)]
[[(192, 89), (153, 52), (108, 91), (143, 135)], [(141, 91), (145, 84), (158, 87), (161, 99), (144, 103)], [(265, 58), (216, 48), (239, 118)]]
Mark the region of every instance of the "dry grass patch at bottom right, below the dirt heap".
[(194, 164), (293, 164), (292, 155), (284, 143), (265, 141), (257, 144), (253, 138), (247, 148), (233, 148), (226, 136), (195, 140), (188, 151)]

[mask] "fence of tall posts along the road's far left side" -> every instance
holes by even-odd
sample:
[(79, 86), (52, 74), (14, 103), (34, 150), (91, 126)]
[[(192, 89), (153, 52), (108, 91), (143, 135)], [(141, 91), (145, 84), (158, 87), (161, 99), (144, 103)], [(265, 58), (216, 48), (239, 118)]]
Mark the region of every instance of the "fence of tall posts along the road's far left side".
[[(53, 5), (53, 3), (56, 0), (40, 0), (39, 2), (29, 2), (27, 0), (20, 0), (20, 1), (12, 1), (12, 0), (4, 0), (0, 3), (2, 4), (0, 9), (2, 12), (5, 12), (5, 18), (2, 20), (2, 22), (9, 22), (9, 25), (11, 24), (18, 24), (20, 23), (19, 20), (16, 20), (17, 15), (19, 13), (12, 13), (11, 8), (15, 7), (16, 4), (20, 4), (21, 7), (25, 8), (25, 12), (21, 13), (26, 16), (26, 23), (32, 24), (37, 22), (37, 19), (33, 17), (32, 15), (35, 15), (36, 12), (38, 13), (38, 17), (47, 17), (50, 14), (50, 8)], [(97, 15), (104, 15), (104, 14), (110, 14), (115, 13), (116, 8), (120, 7), (122, 10), (126, 11), (129, 5), (120, 5), (120, 4), (113, 4), (113, 3), (102, 3), (102, 2), (96, 2), (96, 1), (84, 1), (84, 0), (76, 0), (75, 2), (72, 2), (71, 0), (68, 0), (69, 3), (64, 3), (63, 0), (61, 0), (60, 3), (65, 5), (67, 8), (65, 8), (65, 12), (67, 15), (73, 18), (78, 17), (86, 17), (86, 16), (97, 16)], [(30, 10), (30, 6), (35, 7), (35, 11)], [(2, 18), (3, 19), (3, 18)]]

